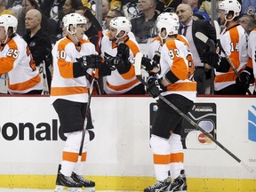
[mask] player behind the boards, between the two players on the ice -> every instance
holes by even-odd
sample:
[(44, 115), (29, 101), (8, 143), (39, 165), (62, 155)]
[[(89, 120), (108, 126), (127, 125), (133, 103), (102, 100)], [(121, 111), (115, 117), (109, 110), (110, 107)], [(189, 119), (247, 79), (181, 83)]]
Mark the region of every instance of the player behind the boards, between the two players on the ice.
[(101, 69), (106, 76), (104, 91), (107, 94), (145, 94), (144, 85), (135, 76), (133, 58), (140, 52), (138, 43), (127, 35), (132, 25), (125, 17), (110, 21), (109, 33), (101, 41), (101, 53), (108, 68)]

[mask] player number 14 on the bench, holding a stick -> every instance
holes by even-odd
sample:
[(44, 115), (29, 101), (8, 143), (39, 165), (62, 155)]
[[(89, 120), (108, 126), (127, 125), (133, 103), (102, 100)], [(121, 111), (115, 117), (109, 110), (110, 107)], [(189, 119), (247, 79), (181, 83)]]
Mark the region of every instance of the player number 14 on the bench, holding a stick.
[(241, 4), (236, 0), (224, 0), (220, 2), (218, 18), (220, 25), (225, 28), (220, 34), (220, 44), (228, 55), (240, 78), (236, 76), (227, 58), (220, 50), (205, 52), (202, 62), (208, 62), (215, 68), (214, 93), (215, 94), (238, 94), (244, 95), (253, 82), (252, 60), (248, 60), (247, 36), (244, 28), (238, 23), (241, 12)]

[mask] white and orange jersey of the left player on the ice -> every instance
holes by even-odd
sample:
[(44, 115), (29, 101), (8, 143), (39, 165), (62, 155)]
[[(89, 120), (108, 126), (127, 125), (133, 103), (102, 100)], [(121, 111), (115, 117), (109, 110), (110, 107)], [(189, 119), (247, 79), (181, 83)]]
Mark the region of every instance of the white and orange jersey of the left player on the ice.
[[(60, 39), (52, 48), (52, 87), (51, 102), (57, 99), (71, 100), (76, 102), (88, 101), (88, 81), (85, 76), (73, 76), (73, 63), (76, 58), (85, 55), (97, 54), (95, 46), (88, 40), (79, 41), (81, 47), (67, 37)], [(91, 73), (92, 69), (87, 72)]]

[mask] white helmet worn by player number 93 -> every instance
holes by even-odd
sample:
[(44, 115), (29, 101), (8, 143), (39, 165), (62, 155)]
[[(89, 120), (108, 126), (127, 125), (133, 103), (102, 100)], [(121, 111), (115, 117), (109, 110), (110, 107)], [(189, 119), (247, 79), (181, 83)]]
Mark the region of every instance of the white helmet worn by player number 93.
[(180, 22), (177, 14), (173, 12), (163, 12), (161, 13), (156, 20), (156, 28), (159, 33), (161, 33), (162, 29), (166, 30), (166, 38), (167, 36), (177, 35), (180, 28)]

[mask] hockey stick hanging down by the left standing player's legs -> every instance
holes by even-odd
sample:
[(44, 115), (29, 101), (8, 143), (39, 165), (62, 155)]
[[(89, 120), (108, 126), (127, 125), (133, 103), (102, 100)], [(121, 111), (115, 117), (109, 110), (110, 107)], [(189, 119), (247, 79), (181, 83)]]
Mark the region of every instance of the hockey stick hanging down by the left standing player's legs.
[(82, 159), (82, 153), (83, 153), (83, 148), (84, 148), (84, 136), (85, 136), (86, 126), (87, 126), (87, 121), (88, 121), (87, 116), (89, 116), (89, 110), (90, 110), (90, 105), (91, 105), (92, 90), (93, 90), (94, 81), (95, 81), (95, 78), (93, 77), (92, 78), (92, 84), (90, 85), (89, 92), (88, 92), (88, 102), (87, 102), (87, 105), (86, 105), (86, 108), (85, 108), (84, 129), (83, 129), (83, 132), (82, 132), (82, 139), (81, 139), (81, 143), (80, 143), (77, 162), (81, 162), (81, 159)]

